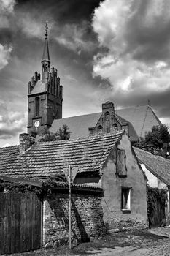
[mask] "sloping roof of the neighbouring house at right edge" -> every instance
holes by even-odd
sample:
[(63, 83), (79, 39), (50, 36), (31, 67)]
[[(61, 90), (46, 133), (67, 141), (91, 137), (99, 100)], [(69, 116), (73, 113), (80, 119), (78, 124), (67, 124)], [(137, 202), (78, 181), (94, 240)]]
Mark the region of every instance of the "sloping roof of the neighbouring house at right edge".
[(147, 170), (163, 181), (168, 186), (170, 185), (170, 160), (160, 156), (155, 156), (150, 152), (139, 148), (134, 148), (136, 157), (140, 163), (143, 163)]

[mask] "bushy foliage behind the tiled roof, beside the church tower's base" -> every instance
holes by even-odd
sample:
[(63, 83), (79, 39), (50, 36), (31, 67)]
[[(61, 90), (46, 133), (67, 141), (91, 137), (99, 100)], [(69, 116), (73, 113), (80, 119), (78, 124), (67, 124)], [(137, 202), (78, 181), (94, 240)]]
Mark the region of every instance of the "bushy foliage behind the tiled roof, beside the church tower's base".
[(45, 129), (41, 135), (39, 135), (38, 141), (54, 141), (54, 140), (69, 140), (71, 132), (66, 124), (59, 128), (57, 132), (53, 133)]

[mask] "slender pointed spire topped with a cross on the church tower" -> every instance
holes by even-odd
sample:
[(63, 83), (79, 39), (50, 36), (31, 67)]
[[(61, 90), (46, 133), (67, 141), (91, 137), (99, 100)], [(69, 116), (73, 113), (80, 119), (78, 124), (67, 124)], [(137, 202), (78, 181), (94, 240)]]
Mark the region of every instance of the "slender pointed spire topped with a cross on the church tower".
[(50, 72), (50, 54), (48, 48), (48, 39), (47, 39), (47, 21), (45, 23), (45, 47), (42, 55), (42, 83), (47, 83)]

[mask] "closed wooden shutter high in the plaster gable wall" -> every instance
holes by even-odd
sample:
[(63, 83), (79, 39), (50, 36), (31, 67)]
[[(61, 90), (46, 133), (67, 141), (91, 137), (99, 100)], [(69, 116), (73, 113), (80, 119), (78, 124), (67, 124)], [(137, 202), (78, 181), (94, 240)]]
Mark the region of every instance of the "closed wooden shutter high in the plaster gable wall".
[(117, 148), (117, 175), (120, 177), (127, 176), (125, 150)]

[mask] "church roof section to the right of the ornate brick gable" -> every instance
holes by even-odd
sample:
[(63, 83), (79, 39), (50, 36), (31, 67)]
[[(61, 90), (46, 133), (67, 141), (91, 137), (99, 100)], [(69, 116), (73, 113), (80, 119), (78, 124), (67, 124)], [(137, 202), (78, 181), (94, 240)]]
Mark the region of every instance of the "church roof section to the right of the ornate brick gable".
[(161, 121), (149, 105), (124, 108), (116, 110), (116, 113), (131, 122), (139, 137), (144, 138), (145, 132), (149, 132), (154, 125), (161, 125)]

